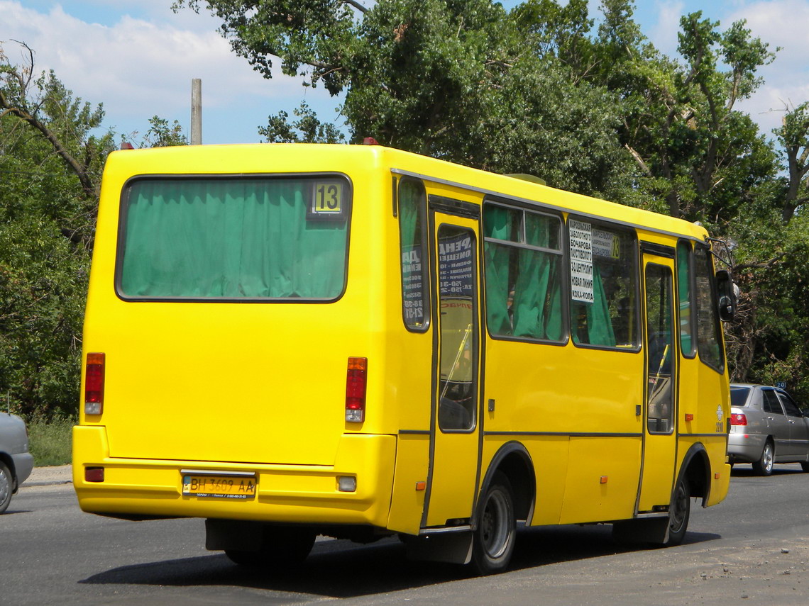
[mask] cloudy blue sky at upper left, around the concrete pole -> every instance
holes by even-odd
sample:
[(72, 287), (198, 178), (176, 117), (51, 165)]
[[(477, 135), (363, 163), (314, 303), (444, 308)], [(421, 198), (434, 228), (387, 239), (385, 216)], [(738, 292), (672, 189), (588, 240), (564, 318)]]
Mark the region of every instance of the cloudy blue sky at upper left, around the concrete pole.
[[(27, 43), (36, 52), (37, 73), (53, 69), (74, 95), (104, 103), (108, 123), (119, 133), (145, 129), (155, 114), (187, 124), (192, 78), (202, 78), (204, 130), (221, 129), (218, 141), (257, 141), (256, 126), (265, 124), (268, 114), (297, 106), (304, 95), (311, 105), (328, 98), (321, 89), (303, 90), (298, 79), (280, 72), (272, 80), (262, 78), (215, 32), (210, 15), (172, 15), (168, 0), (73, 3), (70, 10), (83, 19), (59, 4), (32, 3), (50, 6), (36, 10), (0, 0), (6, 55), (21, 61), (10, 40)], [(104, 12), (113, 5), (114, 14)], [(130, 6), (137, 10), (127, 11)], [(93, 23), (93, 15), (104, 16), (99, 20), (108, 24)], [(240, 128), (244, 134), (235, 134)]]

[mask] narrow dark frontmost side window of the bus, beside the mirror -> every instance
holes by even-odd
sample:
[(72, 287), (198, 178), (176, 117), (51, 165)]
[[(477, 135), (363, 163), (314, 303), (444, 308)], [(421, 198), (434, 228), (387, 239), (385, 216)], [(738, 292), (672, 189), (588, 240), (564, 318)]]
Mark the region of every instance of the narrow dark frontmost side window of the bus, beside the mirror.
[(719, 323), (716, 305), (714, 264), (711, 263), (710, 250), (705, 246), (697, 246), (694, 261), (697, 279), (697, 351), (700, 360), (717, 372), (722, 372), (725, 365), (722, 356), (722, 325)]

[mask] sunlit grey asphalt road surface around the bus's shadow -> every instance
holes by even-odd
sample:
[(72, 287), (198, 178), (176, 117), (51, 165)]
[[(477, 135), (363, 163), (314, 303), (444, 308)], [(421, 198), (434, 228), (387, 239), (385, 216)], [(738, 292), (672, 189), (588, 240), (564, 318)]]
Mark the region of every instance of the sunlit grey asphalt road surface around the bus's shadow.
[[(41, 470), (0, 516), (0, 604), (782, 604), (809, 601), (809, 473), (737, 466), (716, 507), (692, 505), (684, 545), (616, 545), (608, 526), (519, 533), (512, 570), (408, 562), (398, 541), (318, 541), (292, 572), (205, 551), (201, 520), (127, 522), (78, 510)], [(64, 480), (57, 480), (63, 482)]]

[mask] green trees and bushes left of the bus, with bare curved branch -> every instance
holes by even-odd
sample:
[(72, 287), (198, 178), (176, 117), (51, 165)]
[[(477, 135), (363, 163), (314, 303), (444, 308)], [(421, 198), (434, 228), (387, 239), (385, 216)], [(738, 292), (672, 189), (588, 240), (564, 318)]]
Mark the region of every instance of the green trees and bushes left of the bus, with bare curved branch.
[[(28, 418), (74, 415), (84, 300), (104, 162), (104, 108), (74, 97), (34, 52), (0, 47), (0, 397)], [(155, 116), (146, 145), (183, 143)]]

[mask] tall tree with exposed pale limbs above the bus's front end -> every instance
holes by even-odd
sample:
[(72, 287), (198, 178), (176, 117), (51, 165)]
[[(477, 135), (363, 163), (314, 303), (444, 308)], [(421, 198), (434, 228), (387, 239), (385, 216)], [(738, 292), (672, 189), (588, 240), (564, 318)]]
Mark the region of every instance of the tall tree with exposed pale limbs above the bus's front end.
[(682, 62), (660, 55), (632, 21), (633, 2), (604, 2), (592, 69), (625, 99), (621, 140), (638, 170), (638, 187), (658, 209), (724, 232), (752, 192), (773, 179), (772, 145), (750, 116), (735, 110), (773, 61), (768, 44), (743, 21), (725, 32), (701, 12), (680, 19)]

